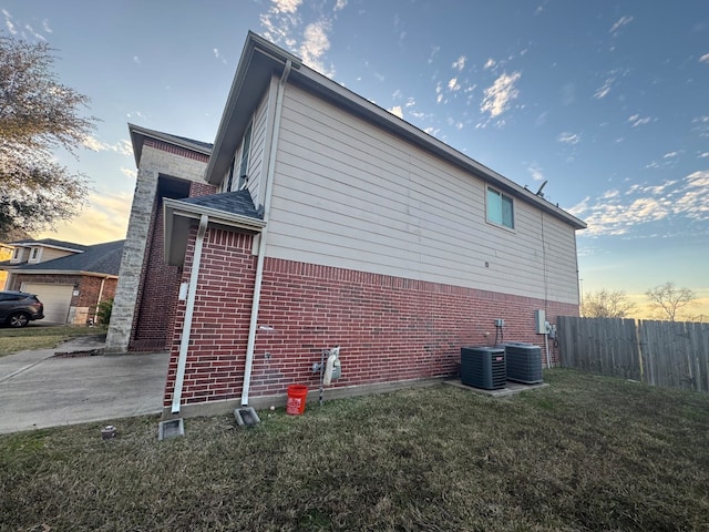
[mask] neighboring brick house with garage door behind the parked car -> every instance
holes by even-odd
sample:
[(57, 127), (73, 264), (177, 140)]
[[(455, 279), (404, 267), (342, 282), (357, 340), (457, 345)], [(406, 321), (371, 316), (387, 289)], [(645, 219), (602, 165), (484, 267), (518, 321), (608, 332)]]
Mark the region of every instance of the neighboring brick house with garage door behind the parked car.
[(6, 288), (35, 294), (44, 304), (42, 323), (96, 321), (101, 301), (113, 298), (123, 241), (85, 246), (51, 238), (13, 242), (12, 257), (0, 263)]

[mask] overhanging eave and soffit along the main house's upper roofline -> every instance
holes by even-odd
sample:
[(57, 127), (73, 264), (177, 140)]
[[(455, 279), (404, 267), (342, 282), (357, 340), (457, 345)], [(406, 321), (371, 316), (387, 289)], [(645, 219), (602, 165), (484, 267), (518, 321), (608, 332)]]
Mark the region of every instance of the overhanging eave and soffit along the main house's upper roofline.
[(503, 192), (562, 219), (576, 229), (586, 228), (584, 222), (544, 200), (541, 195), (534, 194), (341, 84), (309, 69), (302, 64), (300, 59), (250, 31), (246, 38), (214, 141), (214, 150), (205, 174), (208, 183), (216, 185), (226, 174), (238, 147), (237, 143), (240, 141), (250, 120), (250, 111), (258, 104), (268, 83), (270, 83), (271, 76), (280, 75), (288, 62), (291, 63), (288, 83), (297, 83), (320, 98), (401, 139), (405, 139), (417, 147), (432, 153)]

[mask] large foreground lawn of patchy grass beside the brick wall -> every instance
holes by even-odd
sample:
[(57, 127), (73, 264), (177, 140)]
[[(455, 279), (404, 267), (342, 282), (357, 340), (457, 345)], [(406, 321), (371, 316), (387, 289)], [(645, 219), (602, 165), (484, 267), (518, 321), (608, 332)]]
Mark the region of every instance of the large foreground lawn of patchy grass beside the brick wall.
[(0, 437), (0, 530), (709, 530), (709, 396), (573, 370), (493, 399), (446, 385)]

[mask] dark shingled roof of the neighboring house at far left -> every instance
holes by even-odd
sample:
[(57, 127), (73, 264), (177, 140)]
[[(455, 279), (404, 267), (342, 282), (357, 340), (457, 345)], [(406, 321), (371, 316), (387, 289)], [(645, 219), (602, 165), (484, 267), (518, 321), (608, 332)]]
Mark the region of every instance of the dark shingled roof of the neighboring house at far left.
[(12, 266), (16, 273), (52, 273), (52, 274), (103, 274), (117, 276), (123, 256), (125, 241), (106, 242), (93, 246), (81, 246), (82, 253), (75, 253), (65, 257), (54, 258), (38, 264), (3, 265)]

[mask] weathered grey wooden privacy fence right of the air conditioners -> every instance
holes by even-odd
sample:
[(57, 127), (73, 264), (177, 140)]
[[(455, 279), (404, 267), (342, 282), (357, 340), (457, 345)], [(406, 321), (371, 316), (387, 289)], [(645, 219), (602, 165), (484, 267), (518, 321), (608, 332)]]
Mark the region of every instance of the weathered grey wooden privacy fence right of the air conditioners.
[(561, 366), (709, 392), (709, 324), (559, 316)]

